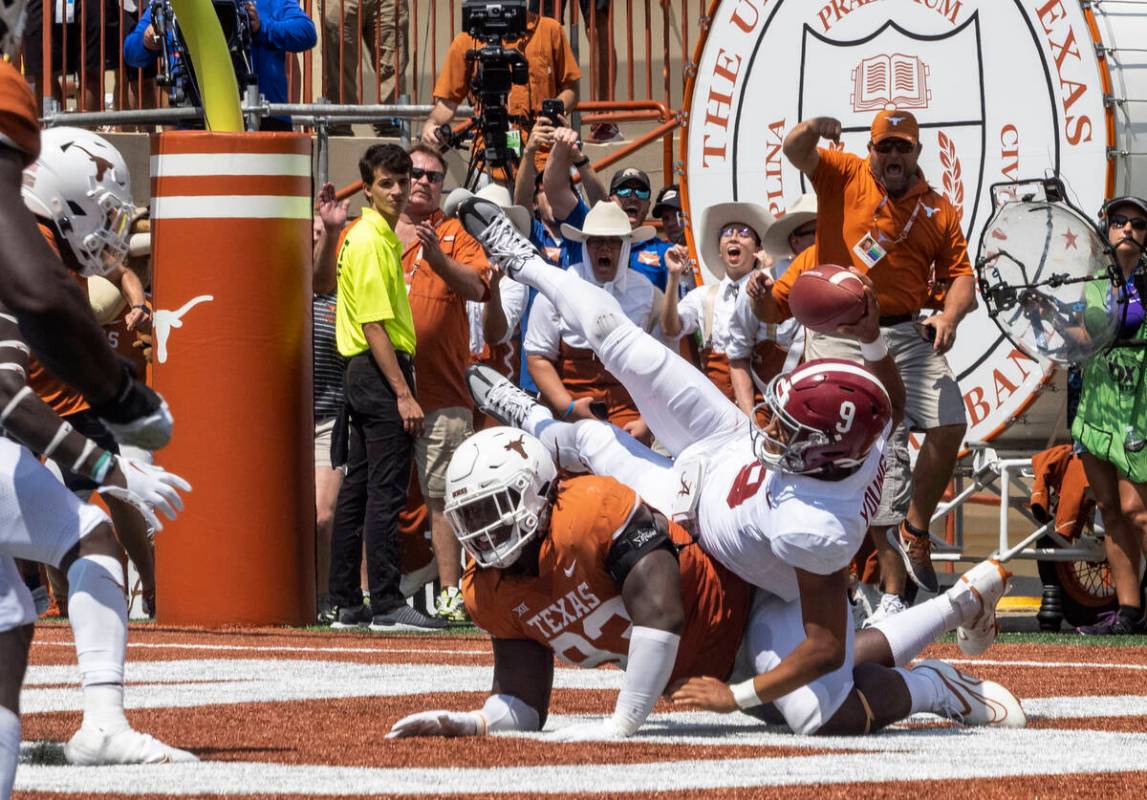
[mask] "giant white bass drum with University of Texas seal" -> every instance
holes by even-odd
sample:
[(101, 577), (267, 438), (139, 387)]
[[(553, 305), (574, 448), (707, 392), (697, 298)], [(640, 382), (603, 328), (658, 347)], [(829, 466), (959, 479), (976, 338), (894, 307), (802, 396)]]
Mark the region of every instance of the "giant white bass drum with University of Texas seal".
[[(1058, 173), (1087, 215), (1116, 192), (1147, 195), (1147, 2), (744, 0), (708, 15), (680, 145), (695, 254), (708, 205), (755, 202), (779, 217), (812, 191), (782, 143), (818, 116), (840, 119), (843, 148), (864, 155), (879, 110), (912, 111), (920, 168), (960, 212), (972, 253), (992, 184)], [(949, 360), (968, 442), (1041, 450), (1066, 437), (1064, 394), (1045, 391), (1062, 378), (1017, 351), (983, 303)]]

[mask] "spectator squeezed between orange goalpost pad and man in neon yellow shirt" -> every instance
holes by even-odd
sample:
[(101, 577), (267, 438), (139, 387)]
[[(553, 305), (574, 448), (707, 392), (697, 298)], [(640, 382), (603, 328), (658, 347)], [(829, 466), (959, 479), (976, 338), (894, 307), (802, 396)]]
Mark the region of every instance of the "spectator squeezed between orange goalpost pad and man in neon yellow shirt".
[(313, 354), (314, 398), (314, 533), (315, 573), (319, 592), (319, 621), (334, 622), (330, 601), (330, 533), (335, 523), (335, 504), (343, 472), (331, 466), (330, 443), (335, 420), (344, 405), (343, 376), (346, 359), (338, 352), (335, 340), (337, 306), (338, 241), (346, 225), (346, 208), (335, 196), (333, 184), (319, 191), (319, 212), (315, 215), (314, 279), (311, 303), (311, 350)]

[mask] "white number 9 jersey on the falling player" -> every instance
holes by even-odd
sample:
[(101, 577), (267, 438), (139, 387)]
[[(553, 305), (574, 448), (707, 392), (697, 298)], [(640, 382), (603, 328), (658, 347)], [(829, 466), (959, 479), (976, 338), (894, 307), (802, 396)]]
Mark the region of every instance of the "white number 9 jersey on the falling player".
[(732, 437), (708, 459), (697, 502), (701, 547), (752, 585), (796, 599), (797, 568), (832, 574), (864, 542), (880, 505), (889, 432), (842, 481), (766, 469), (749, 436)]

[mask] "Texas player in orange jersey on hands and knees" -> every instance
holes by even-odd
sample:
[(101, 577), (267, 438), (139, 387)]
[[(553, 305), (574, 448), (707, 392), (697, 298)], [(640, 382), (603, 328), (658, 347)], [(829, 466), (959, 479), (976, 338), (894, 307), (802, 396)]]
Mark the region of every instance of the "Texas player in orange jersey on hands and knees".
[[(627, 487), (602, 476), (559, 480), (545, 445), (525, 432), (487, 428), (468, 438), (447, 469), (446, 497), (454, 533), (474, 559), (462, 581), (467, 611), (493, 637), (493, 689), (479, 710), (412, 714), (390, 737), (540, 730), (555, 654), (578, 667), (625, 669), (614, 714), (560, 728), (555, 739), (631, 736), (666, 688), (679, 688), (673, 699), (684, 705), (736, 710), (738, 685), (725, 683), (734, 660), (751, 686), (775, 640), (801, 629), (799, 615), (779, 615), (768, 592), (757, 591), (750, 607), (747, 583)], [(921, 604), (937, 618), (953, 609), (927, 636), (903, 620), (860, 631), (845, 697), (830, 714), (821, 714), (821, 696), (833, 684), (821, 682), (780, 698), (777, 709), (751, 713), (777, 720), (780, 710), (801, 733), (868, 733), (918, 710), (1022, 725), (1023, 710), (999, 684), (935, 660), (903, 669), (945, 630), (983, 613), (988, 601), (975, 587), (984, 570), (1001, 572), (985, 561), (959, 589)], [(751, 705), (762, 704), (740, 707)]]

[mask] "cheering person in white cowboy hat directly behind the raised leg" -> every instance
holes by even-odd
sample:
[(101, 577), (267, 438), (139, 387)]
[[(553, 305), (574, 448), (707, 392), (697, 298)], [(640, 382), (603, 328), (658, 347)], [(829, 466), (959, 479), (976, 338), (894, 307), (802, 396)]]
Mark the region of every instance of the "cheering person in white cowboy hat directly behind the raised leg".
[[(646, 332), (661, 334), (657, 320), (664, 295), (629, 266), (630, 246), (653, 235), (634, 230), (616, 203), (599, 202), (578, 230), (562, 225), (562, 235), (582, 242), (582, 261), (570, 271), (617, 298), (625, 314)], [(526, 365), (541, 399), (561, 419), (606, 418), (633, 437), (649, 441), (649, 428), (625, 387), (594, 357), (587, 342), (562, 320), (553, 303), (538, 296), (523, 342)]]

